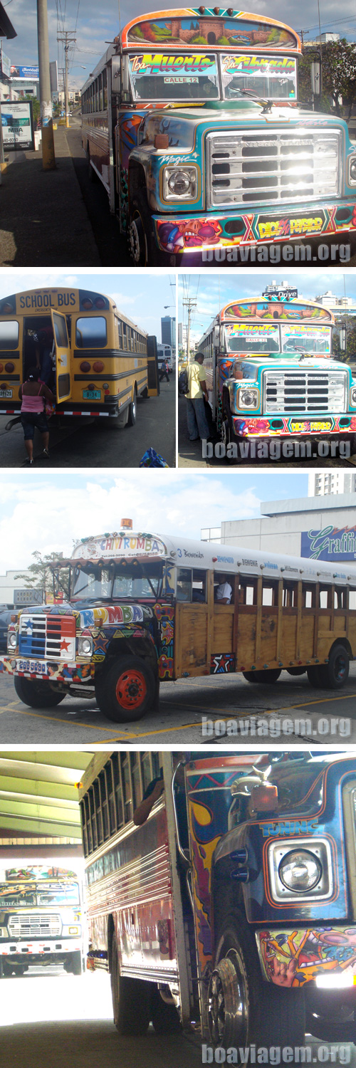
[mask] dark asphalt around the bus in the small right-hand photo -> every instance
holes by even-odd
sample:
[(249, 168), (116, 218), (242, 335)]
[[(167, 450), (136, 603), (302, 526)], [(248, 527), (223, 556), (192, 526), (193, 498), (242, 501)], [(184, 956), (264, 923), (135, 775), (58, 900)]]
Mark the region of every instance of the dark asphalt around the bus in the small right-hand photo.
[[(310, 458), (299, 458), (289, 460), (285, 456), (281, 456), (280, 459), (239, 459), (239, 460), (226, 460), (218, 459), (215, 455), (212, 458), (203, 459), (202, 457), (202, 444), (201, 441), (189, 441), (187, 431), (187, 420), (186, 420), (186, 407), (185, 397), (179, 396), (177, 405), (177, 435), (179, 435), (179, 467), (180, 468), (215, 468), (218, 471), (231, 471), (238, 469), (253, 469), (258, 470), (262, 468), (264, 471), (273, 471), (282, 466), (283, 468), (289, 468), (290, 470), (301, 471), (305, 468), (318, 468), (319, 470), (324, 467), (328, 468), (340, 468), (350, 466), (356, 466), (356, 456), (350, 457), (350, 459), (343, 459), (343, 457), (320, 457), (318, 455), (312, 455)], [(276, 439), (275, 439), (276, 440)], [(213, 446), (214, 447), (214, 446)], [(316, 452), (316, 445), (315, 445)]]

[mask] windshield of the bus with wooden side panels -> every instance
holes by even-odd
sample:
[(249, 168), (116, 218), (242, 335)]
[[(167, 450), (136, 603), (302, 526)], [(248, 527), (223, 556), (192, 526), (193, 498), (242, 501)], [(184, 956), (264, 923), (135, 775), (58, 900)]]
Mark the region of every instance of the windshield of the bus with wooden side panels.
[(162, 587), (164, 566), (159, 560), (88, 563), (74, 569), (72, 600), (111, 600), (129, 598), (152, 600)]

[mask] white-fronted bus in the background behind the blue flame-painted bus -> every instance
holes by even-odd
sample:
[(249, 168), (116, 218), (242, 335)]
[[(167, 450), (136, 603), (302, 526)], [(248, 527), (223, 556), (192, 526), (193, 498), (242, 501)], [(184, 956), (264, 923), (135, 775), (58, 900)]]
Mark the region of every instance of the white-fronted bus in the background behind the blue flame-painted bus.
[(0, 977), (24, 975), (30, 964), (63, 964), (81, 975), (82, 958), (78, 874), (48, 862), (1, 860)]

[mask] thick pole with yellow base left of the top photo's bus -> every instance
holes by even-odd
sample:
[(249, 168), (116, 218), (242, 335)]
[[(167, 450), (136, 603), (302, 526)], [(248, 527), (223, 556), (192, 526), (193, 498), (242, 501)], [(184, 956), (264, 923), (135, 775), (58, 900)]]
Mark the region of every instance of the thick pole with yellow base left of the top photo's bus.
[(42, 166), (44, 171), (56, 167), (52, 99), (49, 77), (47, 0), (37, 0), (37, 41), (40, 67), (40, 100), (42, 119)]

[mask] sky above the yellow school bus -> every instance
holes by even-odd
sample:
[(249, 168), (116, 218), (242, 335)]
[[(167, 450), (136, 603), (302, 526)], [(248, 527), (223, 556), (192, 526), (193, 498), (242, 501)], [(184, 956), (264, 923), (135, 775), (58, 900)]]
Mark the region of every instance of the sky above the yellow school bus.
[[(14, 0), (15, 2), (15, 0)], [(10, 297), (12, 293), (22, 289), (33, 289), (35, 286), (74, 286), (75, 288), (94, 289), (112, 297), (120, 311), (133, 319), (138, 327), (143, 327), (149, 334), (155, 334), (160, 342), (160, 317), (175, 316), (175, 276), (167, 272), (157, 277), (148, 271), (136, 270), (126, 274), (120, 271), (97, 272), (93, 269), (68, 273), (66, 271), (36, 268), (33, 271), (17, 269), (9, 281), (6, 271), (0, 271), (0, 299)], [(165, 309), (165, 304), (168, 305)]]

